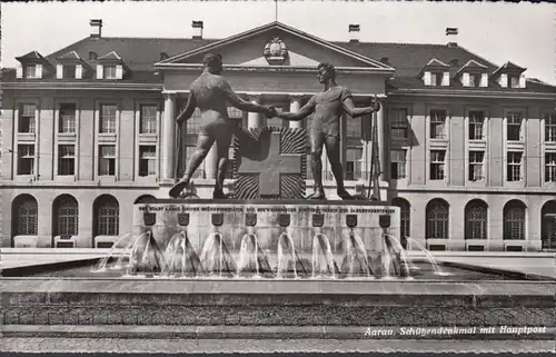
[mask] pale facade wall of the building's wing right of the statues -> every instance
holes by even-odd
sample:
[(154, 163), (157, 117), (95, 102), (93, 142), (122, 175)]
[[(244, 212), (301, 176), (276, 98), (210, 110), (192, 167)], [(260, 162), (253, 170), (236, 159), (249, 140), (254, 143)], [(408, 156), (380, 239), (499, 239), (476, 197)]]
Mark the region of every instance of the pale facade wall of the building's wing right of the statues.
[[(464, 99), (388, 98), (386, 128), (390, 128), (393, 108), (407, 108), (410, 126), (409, 138), (393, 138), (385, 132), (388, 149), (406, 149), (407, 176), (391, 179), (389, 199), (405, 198), (410, 204), (410, 237), (425, 246), (446, 245), (447, 250), (464, 250), (466, 245), (484, 245), (485, 250), (505, 250), (506, 246), (522, 246), (524, 250), (540, 249), (542, 209), (554, 199), (556, 182), (545, 182), (544, 116), (550, 111), (548, 102), (542, 101), (496, 101)], [(431, 139), (430, 109), (447, 110), (447, 140)], [(469, 111), (484, 110), (486, 113), (485, 140), (469, 140)], [(523, 140), (506, 140), (508, 110), (524, 112)], [(445, 149), (446, 178), (430, 179), (430, 150)], [(469, 180), (469, 150), (484, 150), (485, 178)], [(523, 179), (517, 182), (507, 180), (507, 151), (522, 150)], [(435, 198), (449, 205), (449, 232), (446, 239), (426, 239), (426, 208)], [(488, 239), (485, 242), (469, 240), (465, 236), (465, 207), (473, 199), (480, 199), (488, 206)], [(526, 240), (508, 241), (503, 239), (504, 207), (517, 199), (525, 204)]]

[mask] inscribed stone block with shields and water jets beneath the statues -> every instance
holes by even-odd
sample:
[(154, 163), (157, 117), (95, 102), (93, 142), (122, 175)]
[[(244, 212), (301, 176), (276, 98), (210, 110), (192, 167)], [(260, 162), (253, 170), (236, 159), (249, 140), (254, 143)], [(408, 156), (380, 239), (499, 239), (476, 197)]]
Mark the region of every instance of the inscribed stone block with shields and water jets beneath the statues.
[(183, 240), (176, 249), (195, 271), (376, 277), (400, 269), (399, 209), (371, 201), (159, 199), (136, 205), (135, 219), (133, 236), (150, 235), (155, 250), (171, 254)]

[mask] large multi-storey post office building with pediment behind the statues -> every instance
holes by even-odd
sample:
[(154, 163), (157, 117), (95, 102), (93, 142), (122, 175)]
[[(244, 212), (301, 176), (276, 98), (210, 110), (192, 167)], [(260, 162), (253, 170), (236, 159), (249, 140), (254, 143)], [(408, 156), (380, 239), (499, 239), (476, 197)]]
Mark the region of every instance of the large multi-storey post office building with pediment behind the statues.
[[(246, 100), (296, 111), (321, 90), (319, 62), (336, 66), (358, 106), (381, 98), (380, 187), (401, 207), (404, 236), (431, 250), (556, 247), (556, 88), (525, 68), (454, 40), (364, 43), (358, 26), (348, 42), (279, 22), (222, 40), (106, 38), (100, 20), (91, 27), (90, 37), (2, 71), (3, 247), (107, 247), (131, 231), (133, 202), (167, 197), (180, 175), (177, 146), (186, 157), (195, 149), (199, 113), (182, 128), (175, 118), (207, 52), (222, 54)], [(229, 115), (244, 127), (299, 125)], [(368, 189), (370, 123), (344, 120), (351, 191)], [(201, 197), (214, 178), (211, 152), (195, 179)]]

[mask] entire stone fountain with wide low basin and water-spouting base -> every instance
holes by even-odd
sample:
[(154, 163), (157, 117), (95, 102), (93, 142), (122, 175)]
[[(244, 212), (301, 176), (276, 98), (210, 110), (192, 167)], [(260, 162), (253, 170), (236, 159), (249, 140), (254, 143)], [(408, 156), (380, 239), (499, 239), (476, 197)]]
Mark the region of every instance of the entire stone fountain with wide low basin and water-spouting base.
[[(270, 138), (272, 150), (288, 142)], [(285, 162), (295, 161), (289, 165), (302, 173), (306, 141), (295, 142), (295, 150), (287, 146), (289, 151), (269, 155), (287, 156)], [(252, 168), (244, 175), (241, 160), (249, 157), (238, 152), (234, 198), (135, 205), (132, 234), (95, 260), (92, 271), (90, 261), (4, 269), (1, 333), (140, 338), (145, 345), (151, 338), (288, 345), (368, 338), (369, 327), (554, 326), (554, 281), (527, 284), (520, 280), (530, 276), (454, 266), (441, 270), (409, 238), (427, 257), (426, 265), (414, 262), (397, 238), (399, 208), (305, 200), (304, 175), (272, 176), (268, 170), (276, 166), (265, 162), (259, 167), (267, 179), (257, 179)], [(398, 334), (396, 344), (403, 338), (415, 336)]]

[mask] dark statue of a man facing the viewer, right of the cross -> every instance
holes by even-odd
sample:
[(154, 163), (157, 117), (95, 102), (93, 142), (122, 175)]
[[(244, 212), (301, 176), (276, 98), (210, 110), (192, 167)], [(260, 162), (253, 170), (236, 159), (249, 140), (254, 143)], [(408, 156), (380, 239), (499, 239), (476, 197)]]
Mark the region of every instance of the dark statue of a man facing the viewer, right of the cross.
[(380, 103), (373, 100), (370, 107), (356, 108), (351, 92), (336, 82), (336, 69), (330, 63), (318, 65), (317, 79), (325, 85), (325, 90), (315, 95), (298, 112), (278, 112), (277, 116), (286, 120), (302, 120), (315, 113), (309, 128), (311, 149), (311, 170), (315, 179), (315, 194), (311, 199), (325, 199), (322, 188), (322, 146), (326, 152), (334, 177), (336, 189), (341, 199), (351, 199), (351, 195), (344, 187), (344, 168), (340, 162), (340, 118), (348, 113), (351, 118), (369, 115), (380, 110)]

